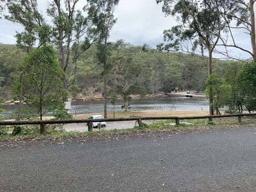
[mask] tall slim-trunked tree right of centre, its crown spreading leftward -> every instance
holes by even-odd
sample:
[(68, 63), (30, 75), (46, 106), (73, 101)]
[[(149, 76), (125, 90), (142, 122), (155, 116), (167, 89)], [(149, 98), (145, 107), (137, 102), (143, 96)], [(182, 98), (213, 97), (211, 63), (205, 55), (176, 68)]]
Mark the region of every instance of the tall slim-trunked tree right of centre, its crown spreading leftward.
[[(156, 0), (164, 2), (162, 11), (165, 16), (173, 16), (178, 25), (164, 31), (164, 40), (169, 42), (165, 50), (195, 50), (198, 45), (208, 51), (208, 75), (212, 74), (213, 50), (220, 39), (223, 29), (221, 12), (225, 5), (223, 0)], [(191, 42), (191, 45), (187, 45)], [(213, 97), (209, 89), (209, 114), (213, 114)]]

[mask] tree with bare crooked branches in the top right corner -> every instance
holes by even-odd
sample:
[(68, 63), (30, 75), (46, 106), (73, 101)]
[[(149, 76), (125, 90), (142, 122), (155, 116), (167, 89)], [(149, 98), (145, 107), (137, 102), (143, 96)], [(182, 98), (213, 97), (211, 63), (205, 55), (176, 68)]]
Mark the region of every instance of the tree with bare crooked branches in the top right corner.
[[(240, 56), (233, 56), (229, 48), (236, 48), (240, 52), (248, 54), (256, 62), (256, 28), (255, 28), (255, 3), (254, 0), (229, 0), (228, 8), (224, 8), (222, 16), (226, 25), (226, 36), (220, 38), (218, 46), (225, 47), (224, 51), (217, 50), (218, 53), (228, 58), (238, 61), (245, 61)], [(239, 43), (240, 36), (236, 34), (245, 34), (243, 39), (248, 36), (250, 39), (251, 50)]]

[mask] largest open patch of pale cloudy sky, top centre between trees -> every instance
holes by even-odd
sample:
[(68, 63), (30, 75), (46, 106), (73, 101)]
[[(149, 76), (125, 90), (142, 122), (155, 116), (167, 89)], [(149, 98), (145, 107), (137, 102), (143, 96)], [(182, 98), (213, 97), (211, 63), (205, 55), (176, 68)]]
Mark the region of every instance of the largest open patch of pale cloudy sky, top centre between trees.
[(115, 15), (118, 22), (110, 39), (124, 39), (134, 45), (147, 43), (155, 47), (162, 42), (163, 31), (176, 24), (171, 17), (164, 17), (162, 6), (155, 0), (120, 1)]

